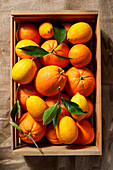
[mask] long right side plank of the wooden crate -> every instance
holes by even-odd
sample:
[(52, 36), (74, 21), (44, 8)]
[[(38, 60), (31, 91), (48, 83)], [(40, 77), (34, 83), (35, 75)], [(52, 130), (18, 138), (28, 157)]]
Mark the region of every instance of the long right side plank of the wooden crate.
[(100, 14), (97, 17), (96, 25), (96, 105), (95, 105), (95, 116), (96, 116), (96, 146), (102, 154), (102, 116), (101, 116), (101, 38), (100, 38)]

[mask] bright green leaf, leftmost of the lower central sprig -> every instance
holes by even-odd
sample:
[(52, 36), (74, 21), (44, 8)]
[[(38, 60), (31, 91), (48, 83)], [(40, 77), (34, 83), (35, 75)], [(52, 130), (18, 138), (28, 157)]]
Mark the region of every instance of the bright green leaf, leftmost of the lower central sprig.
[(43, 125), (49, 124), (57, 114), (57, 103), (46, 109), (43, 114)]

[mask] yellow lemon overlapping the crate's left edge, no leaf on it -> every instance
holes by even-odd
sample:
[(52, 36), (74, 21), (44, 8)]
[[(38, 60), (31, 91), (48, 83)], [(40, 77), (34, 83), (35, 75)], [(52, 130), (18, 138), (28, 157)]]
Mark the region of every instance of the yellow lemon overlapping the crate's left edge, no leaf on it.
[(12, 68), (12, 78), (20, 84), (30, 83), (37, 71), (35, 62), (31, 59), (22, 59)]

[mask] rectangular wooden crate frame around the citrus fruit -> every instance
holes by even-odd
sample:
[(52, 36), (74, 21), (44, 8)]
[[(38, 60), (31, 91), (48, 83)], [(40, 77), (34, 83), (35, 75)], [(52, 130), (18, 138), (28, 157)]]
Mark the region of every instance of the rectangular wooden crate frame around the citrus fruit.
[[(11, 69), (18, 61), (15, 54), (16, 27), (21, 23), (40, 24), (43, 21), (50, 22), (88, 22), (93, 28), (93, 38), (89, 44), (93, 58), (90, 69), (96, 78), (95, 90), (91, 95), (95, 106), (95, 113), (90, 118), (95, 128), (95, 141), (87, 146), (61, 145), (53, 146), (40, 143), (39, 147), (45, 155), (102, 155), (102, 116), (101, 116), (101, 38), (100, 38), (100, 14), (97, 11), (49, 11), (49, 12), (12, 12), (11, 13)], [(11, 109), (16, 102), (16, 84), (11, 78)], [(21, 110), (21, 109), (20, 109)], [(18, 113), (17, 118), (21, 115)], [(17, 136), (14, 127), (11, 127), (12, 134), (12, 153), (14, 155), (41, 155), (34, 145), (24, 144)]]

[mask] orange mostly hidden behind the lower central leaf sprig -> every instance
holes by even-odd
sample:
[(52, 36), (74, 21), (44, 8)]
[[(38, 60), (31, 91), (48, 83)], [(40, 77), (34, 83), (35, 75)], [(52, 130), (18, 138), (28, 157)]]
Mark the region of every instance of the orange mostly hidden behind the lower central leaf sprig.
[[(46, 98), (45, 102), (46, 102), (47, 106), (51, 107), (51, 106), (55, 105), (58, 101), (58, 96), (59, 95), (57, 94), (55, 96), (51, 96), (51, 97)], [(67, 96), (65, 93), (61, 93), (61, 97), (64, 97), (65, 99), (70, 100), (70, 97)], [(60, 118), (62, 118), (64, 115), (69, 116), (70, 112), (62, 104), (61, 100), (60, 100), (60, 106), (61, 106), (61, 116), (60, 116)]]

